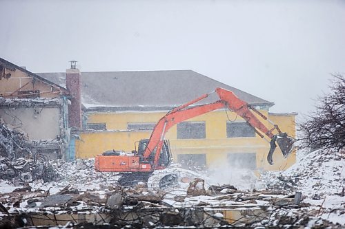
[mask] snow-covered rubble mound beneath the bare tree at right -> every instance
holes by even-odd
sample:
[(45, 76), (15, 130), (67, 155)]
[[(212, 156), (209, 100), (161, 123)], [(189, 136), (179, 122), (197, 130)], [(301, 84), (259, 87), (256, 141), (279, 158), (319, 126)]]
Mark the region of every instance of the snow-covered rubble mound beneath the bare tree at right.
[[(309, 215), (345, 226), (345, 151), (299, 152), (296, 164), (283, 172), (262, 175), (270, 190), (301, 192)], [(279, 215), (300, 214), (282, 210)], [(316, 220), (315, 219), (315, 220)]]

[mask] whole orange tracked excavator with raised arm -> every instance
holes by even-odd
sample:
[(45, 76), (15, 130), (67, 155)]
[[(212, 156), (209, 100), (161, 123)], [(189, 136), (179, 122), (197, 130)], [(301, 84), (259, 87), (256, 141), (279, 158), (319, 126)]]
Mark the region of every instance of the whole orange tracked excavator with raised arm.
[[(197, 104), (197, 102), (207, 98), (213, 92), (217, 93), (219, 100), (204, 105)], [(155, 125), (150, 139), (140, 140), (138, 147), (136, 142), (135, 150), (132, 151), (132, 153), (126, 154), (121, 151), (112, 150), (97, 155), (95, 158), (96, 171), (124, 173), (118, 181), (124, 186), (135, 184), (140, 181), (147, 182), (153, 171), (166, 168), (172, 161), (169, 142), (164, 140), (165, 133), (172, 126), (195, 116), (224, 108), (230, 109), (230, 111), (237, 113), (238, 116), (246, 120), (261, 138), (264, 138), (264, 135), (270, 138), (270, 151), (267, 156), (269, 164), (273, 164), (273, 152), (277, 147), (276, 142), (284, 157), (287, 157), (293, 150), (295, 139), (289, 137), (287, 133), (282, 133), (277, 124), (270, 122), (270, 120), (268, 120), (264, 114), (257, 111), (255, 107), (237, 98), (232, 91), (218, 87), (213, 92), (204, 94), (195, 100), (168, 111), (168, 113), (166, 113), (166, 115)], [(272, 127), (268, 129), (268, 127), (255, 116), (255, 113), (263, 120), (268, 120)], [(275, 133), (273, 133), (273, 131)], [(169, 174), (160, 177), (160, 179), (159, 187), (164, 187), (176, 182), (177, 177), (176, 175)]]

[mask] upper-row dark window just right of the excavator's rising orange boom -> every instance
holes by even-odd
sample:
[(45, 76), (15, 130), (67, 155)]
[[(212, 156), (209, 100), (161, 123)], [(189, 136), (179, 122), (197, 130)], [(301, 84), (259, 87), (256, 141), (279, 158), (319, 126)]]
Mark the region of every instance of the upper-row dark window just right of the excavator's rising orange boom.
[(206, 138), (205, 122), (181, 122), (177, 124), (177, 139)]

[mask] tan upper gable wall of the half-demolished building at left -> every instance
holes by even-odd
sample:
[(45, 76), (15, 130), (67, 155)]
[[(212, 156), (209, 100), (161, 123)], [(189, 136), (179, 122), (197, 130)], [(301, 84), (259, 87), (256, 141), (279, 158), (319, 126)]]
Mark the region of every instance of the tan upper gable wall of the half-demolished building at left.
[[(1, 78), (0, 96), (5, 98), (17, 98), (17, 91), (39, 90), (41, 98), (55, 98), (61, 94), (61, 89), (52, 87), (45, 82), (30, 76), (19, 69), (5, 68), (5, 75), (10, 74), (10, 78)], [(1, 74), (1, 72), (0, 72)]]

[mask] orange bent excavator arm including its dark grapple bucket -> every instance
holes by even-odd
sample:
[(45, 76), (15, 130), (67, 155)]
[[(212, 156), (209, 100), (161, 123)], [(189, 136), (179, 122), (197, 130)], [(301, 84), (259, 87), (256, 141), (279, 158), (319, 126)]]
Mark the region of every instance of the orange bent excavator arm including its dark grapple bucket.
[[(214, 92), (214, 91), (213, 91)], [(164, 135), (165, 133), (175, 124), (188, 120), (195, 116), (200, 116), (204, 113), (214, 111), (221, 108), (230, 109), (241, 116), (250, 126), (254, 127), (255, 132), (261, 137), (264, 138), (264, 133), (268, 138), (270, 138), (270, 151), (268, 153), (268, 163), (273, 164), (273, 152), (277, 147), (275, 142), (279, 145), (279, 148), (282, 150), (284, 157), (286, 157), (293, 149), (293, 142), (295, 140), (291, 137), (288, 137), (286, 133), (282, 133), (279, 127), (276, 124), (273, 124), (273, 128), (268, 129), (254, 113), (257, 113), (264, 120), (268, 120), (266, 116), (257, 111), (254, 107), (248, 105), (247, 102), (240, 100), (233, 94), (232, 91), (226, 89), (217, 88), (215, 89), (219, 100), (216, 102), (208, 103), (205, 105), (195, 105), (195, 103), (207, 98), (210, 94), (204, 94), (199, 98), (196, 98), (193, 101), (190, 101), (184, 105), (176, 107), (169, 111), (164, 117), (162, 117), (156, 124), (155, 128), (152, 131), (148, 145), (144, 151), (144, 161), (149, 162), (149, 157), (152, 158), (152, 153), (155, 152), (154, 161), (152, 164), (153, 168), (157, 168), (159, 155), (161, 148), (164, 144)], [(269, 120), (268, 120), (269, 121)], [(261, 133), (259, 131), (261, 131)], [(277, 130), (277, 134), (273, 134), (273, 131)]]

